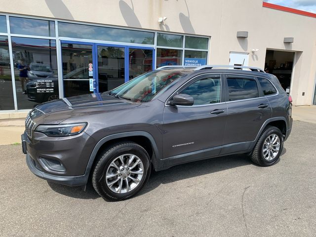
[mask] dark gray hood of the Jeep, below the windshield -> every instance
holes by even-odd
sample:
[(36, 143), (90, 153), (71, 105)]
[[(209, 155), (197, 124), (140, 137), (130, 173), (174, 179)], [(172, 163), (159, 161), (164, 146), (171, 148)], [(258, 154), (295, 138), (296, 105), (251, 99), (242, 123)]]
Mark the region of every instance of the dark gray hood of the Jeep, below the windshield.
[(106, 93), (95, 93), (40, 104), (30, 112), (30, 117), (37, 124), (58, 124), (68, 118), (125, 110), (139, 105)]

